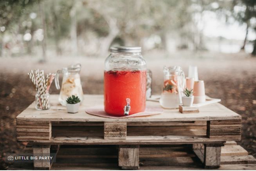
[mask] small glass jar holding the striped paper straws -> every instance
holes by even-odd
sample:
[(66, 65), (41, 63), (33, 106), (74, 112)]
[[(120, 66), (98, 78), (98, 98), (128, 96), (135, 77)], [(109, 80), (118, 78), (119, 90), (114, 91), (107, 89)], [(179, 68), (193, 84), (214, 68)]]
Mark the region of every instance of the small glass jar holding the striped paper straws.
[(36, 93), (36, 109), (37, 110), (47, 110), (50, 109), (50, 95), (49, 93)]

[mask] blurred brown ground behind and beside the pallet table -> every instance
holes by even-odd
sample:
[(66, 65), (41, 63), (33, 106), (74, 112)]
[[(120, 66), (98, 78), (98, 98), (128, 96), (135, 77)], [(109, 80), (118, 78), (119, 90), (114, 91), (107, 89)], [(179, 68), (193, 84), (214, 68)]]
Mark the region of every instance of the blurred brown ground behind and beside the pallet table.
[[(256, 157), (256, 58), (244, 54), (216, 55), (210, 58), (145, 57), (153, 73), (153, 93), (162, 89), (162, 67), (180, 65), (187, 75), (188, 66), (198, 66), (199, 78), (205, 81), (206, 93), (220, 98), (221, 104), (242, 115), (242, 140), (238, 142)], [(34, 100), (34, 90), (27, 76), (30, 69), (56, 72), (66, 65), (82, 64), (81, 81), (84, 93), (103, 93), (104, 58), (57, 58), (38, 63), (34, 58), (0, 58), (0, 169), (7, 169), (2, 160), (6, 153), (18, 153), (26, 143), (16, 142), (16, 116)], [(55, 85), (50, 93), (59, 93)]]

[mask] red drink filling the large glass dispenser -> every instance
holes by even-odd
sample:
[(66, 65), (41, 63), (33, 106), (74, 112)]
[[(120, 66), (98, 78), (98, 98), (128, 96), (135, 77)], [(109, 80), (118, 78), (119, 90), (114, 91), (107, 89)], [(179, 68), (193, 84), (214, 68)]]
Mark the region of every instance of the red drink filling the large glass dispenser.
[(104, 106), (106, 113), (124, 116), (126, 99), (130, 99), (129, 115), (146, 108), (146, 71), (105, 71)]

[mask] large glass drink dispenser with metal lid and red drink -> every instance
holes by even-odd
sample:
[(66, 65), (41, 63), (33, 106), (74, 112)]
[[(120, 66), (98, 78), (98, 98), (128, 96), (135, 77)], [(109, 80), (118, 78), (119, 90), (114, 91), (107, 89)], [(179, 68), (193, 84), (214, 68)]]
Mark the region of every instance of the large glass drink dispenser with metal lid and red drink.
[(109, 115), (124, 116), (146, 108), (146, 61), (141, 47), (111, 47), (105, 60), (104, 106)]

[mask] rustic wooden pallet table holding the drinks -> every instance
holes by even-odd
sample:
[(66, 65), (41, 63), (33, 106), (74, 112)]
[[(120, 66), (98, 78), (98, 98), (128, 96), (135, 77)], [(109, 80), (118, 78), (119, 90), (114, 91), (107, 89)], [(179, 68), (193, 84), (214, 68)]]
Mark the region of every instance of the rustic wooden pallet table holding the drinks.
[[(49, 153), (56, 145), (118, 145), (118, 163), (123, 169), (138, 169), (140, 145), (191, 144), (205, 168), (218, 168), (225, 141), (241, 138), (241, 116), (221, 104), (200, 108), (200, 113), (180, 114), (164, 109), (160, 115), (134, 118), (103, 118), (85, 109), (103, 104), (103, 95), (85, 95), (76, 114), (59, 105), (51, 95), (51, 108), (38, 111), (32, 103), (16, 118), (18, 141), (34, 145), (34, 153)], [(147, 101), (147, 105), (159, 106)], [(58, 146), (57, 146), (58, 147)], [(35, 169), (50, 169), (50, 163), (34, 163)]]

